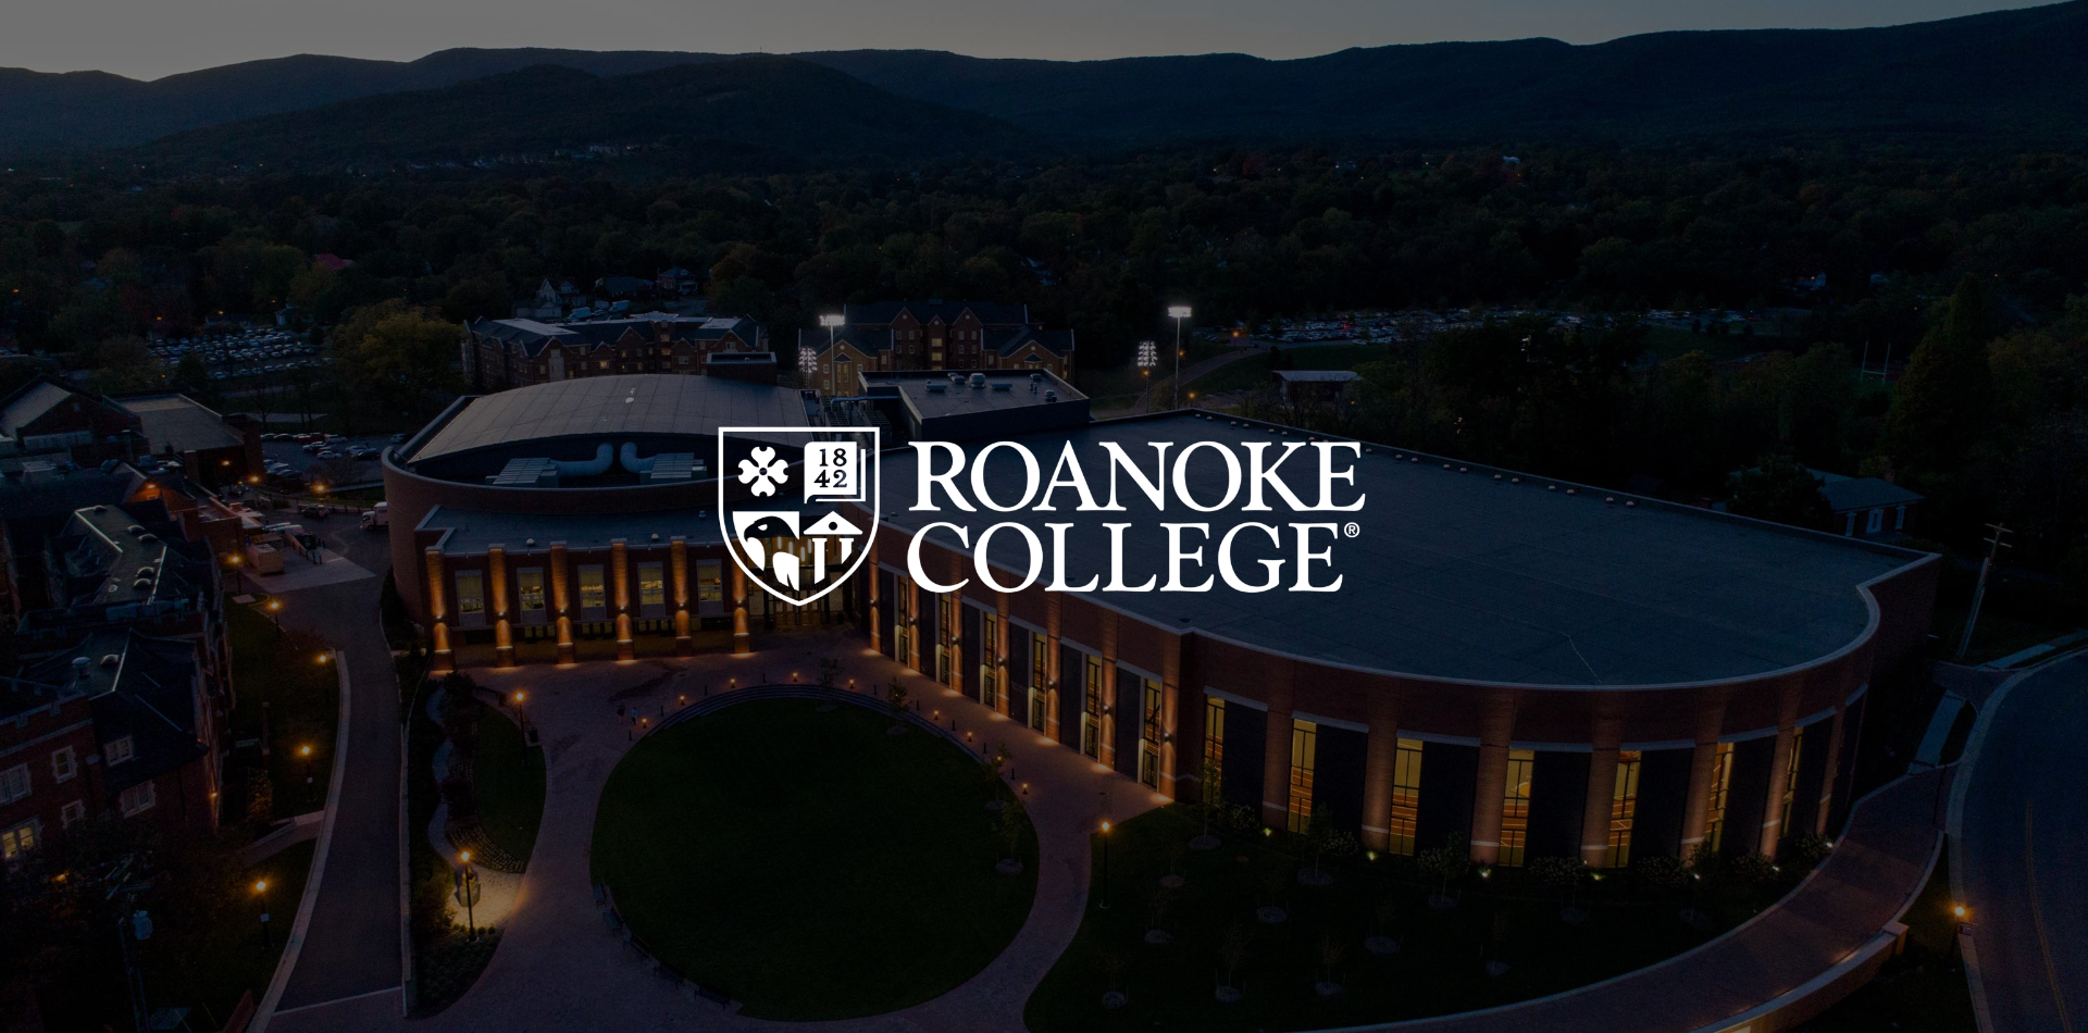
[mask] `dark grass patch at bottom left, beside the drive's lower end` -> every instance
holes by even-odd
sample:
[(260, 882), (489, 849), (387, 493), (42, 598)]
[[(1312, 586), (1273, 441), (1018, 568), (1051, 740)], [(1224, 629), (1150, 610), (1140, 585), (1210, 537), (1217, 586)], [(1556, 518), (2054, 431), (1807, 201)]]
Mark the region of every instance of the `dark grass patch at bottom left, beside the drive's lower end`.
[[(213, 912), (215, 924), (180, 941), (188, 950), (157, 956), (148, 939), (142, 950), (146, 1000), (152, 1006), (194, 1008), (190, 1025), (196, 1029), (226, 1025), (246, 991), (253, 991), (255, 1004), (259, 1004), (267, 993), (269, 979), (276, 977), (276, 958), (282, 956), (282, 941), (290, 935), (296, 906), (305, 897), (305, 876), (311, 870), (315, 845), (313, 841), (296, 843), (248, 868), (240, 885), (244, 893)], [(267, 881), (271, 927), (267, 945), (261, 943), (261, 897), (251, 891), (261, 879)], [(169, 941), (171, 937), (161, 943)]]

